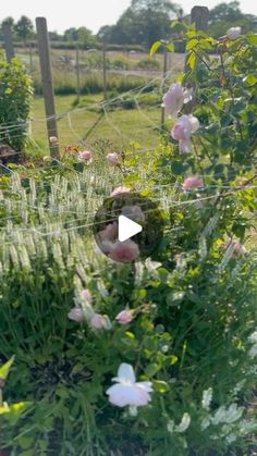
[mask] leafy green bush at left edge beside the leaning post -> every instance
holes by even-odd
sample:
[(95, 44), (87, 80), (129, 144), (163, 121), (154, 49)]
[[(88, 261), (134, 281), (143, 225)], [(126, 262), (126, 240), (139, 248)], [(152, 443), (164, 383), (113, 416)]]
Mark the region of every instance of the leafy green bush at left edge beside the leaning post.
[[(26, 121), (32, 96), (30, 78), (19, 60), (0, 60), (0, 141), (22, 151), (26, 143)], [(5, 130), (4, 126), (12, 125)]]

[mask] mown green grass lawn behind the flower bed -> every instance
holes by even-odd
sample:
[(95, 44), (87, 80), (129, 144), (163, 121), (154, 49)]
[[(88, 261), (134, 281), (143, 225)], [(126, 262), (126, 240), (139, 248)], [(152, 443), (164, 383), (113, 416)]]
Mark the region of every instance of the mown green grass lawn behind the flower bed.
[[(73, 108), (75, 96), (57, 96), (57, 115), (63, 115), (58, 121), (61, 147), (70, 144), (88, 144), (96, 139), (108, 139), (113, 147), (126, 147), (130, 141), (138, 141), (142, 147), (156, 147), (159, 143), (158, 127), (160, 125), (160, 107), (138, 109), (110, 110), (107, 106), (105, 114), (96, 108), (101, 95), (82, 97), (82, 108)], [(68, 114), (69, 112), (69, 114)], [(44, 153), (47, 148), (47, 128), (45, 121), (44, 99), (36, 97), (33, 101), (30, 118), (30, 138)], [(97, 123), (99, 121), (99, 123)]]

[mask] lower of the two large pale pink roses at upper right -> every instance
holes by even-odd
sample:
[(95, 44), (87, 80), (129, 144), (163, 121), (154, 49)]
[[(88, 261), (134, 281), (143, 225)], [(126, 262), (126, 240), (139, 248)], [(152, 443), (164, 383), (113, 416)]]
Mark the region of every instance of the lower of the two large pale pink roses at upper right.
[(179, 140), (181, 153), (187, 153), (192, 149), (191, 135), (197, 132), (200, 124), (194, 115), (182, 115), (171, 131), (173, 139)]

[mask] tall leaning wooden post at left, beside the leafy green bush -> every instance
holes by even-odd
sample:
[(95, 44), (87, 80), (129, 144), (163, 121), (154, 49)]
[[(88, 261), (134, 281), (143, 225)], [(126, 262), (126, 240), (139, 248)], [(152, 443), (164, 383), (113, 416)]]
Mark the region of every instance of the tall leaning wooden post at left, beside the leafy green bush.
[(50, 46), (47, 30), (46, 17), (36, 17), (38, 52), (41, 69), (42, 94), (45, 100), (45, 111), (47, 119), (48, 141), (50, 153), (53, 158), (59, 158), (58, 141), (50, 140), (51, 137), (58, 138), (54, 94), (52, 84), (52, 72), (50, 62)]

